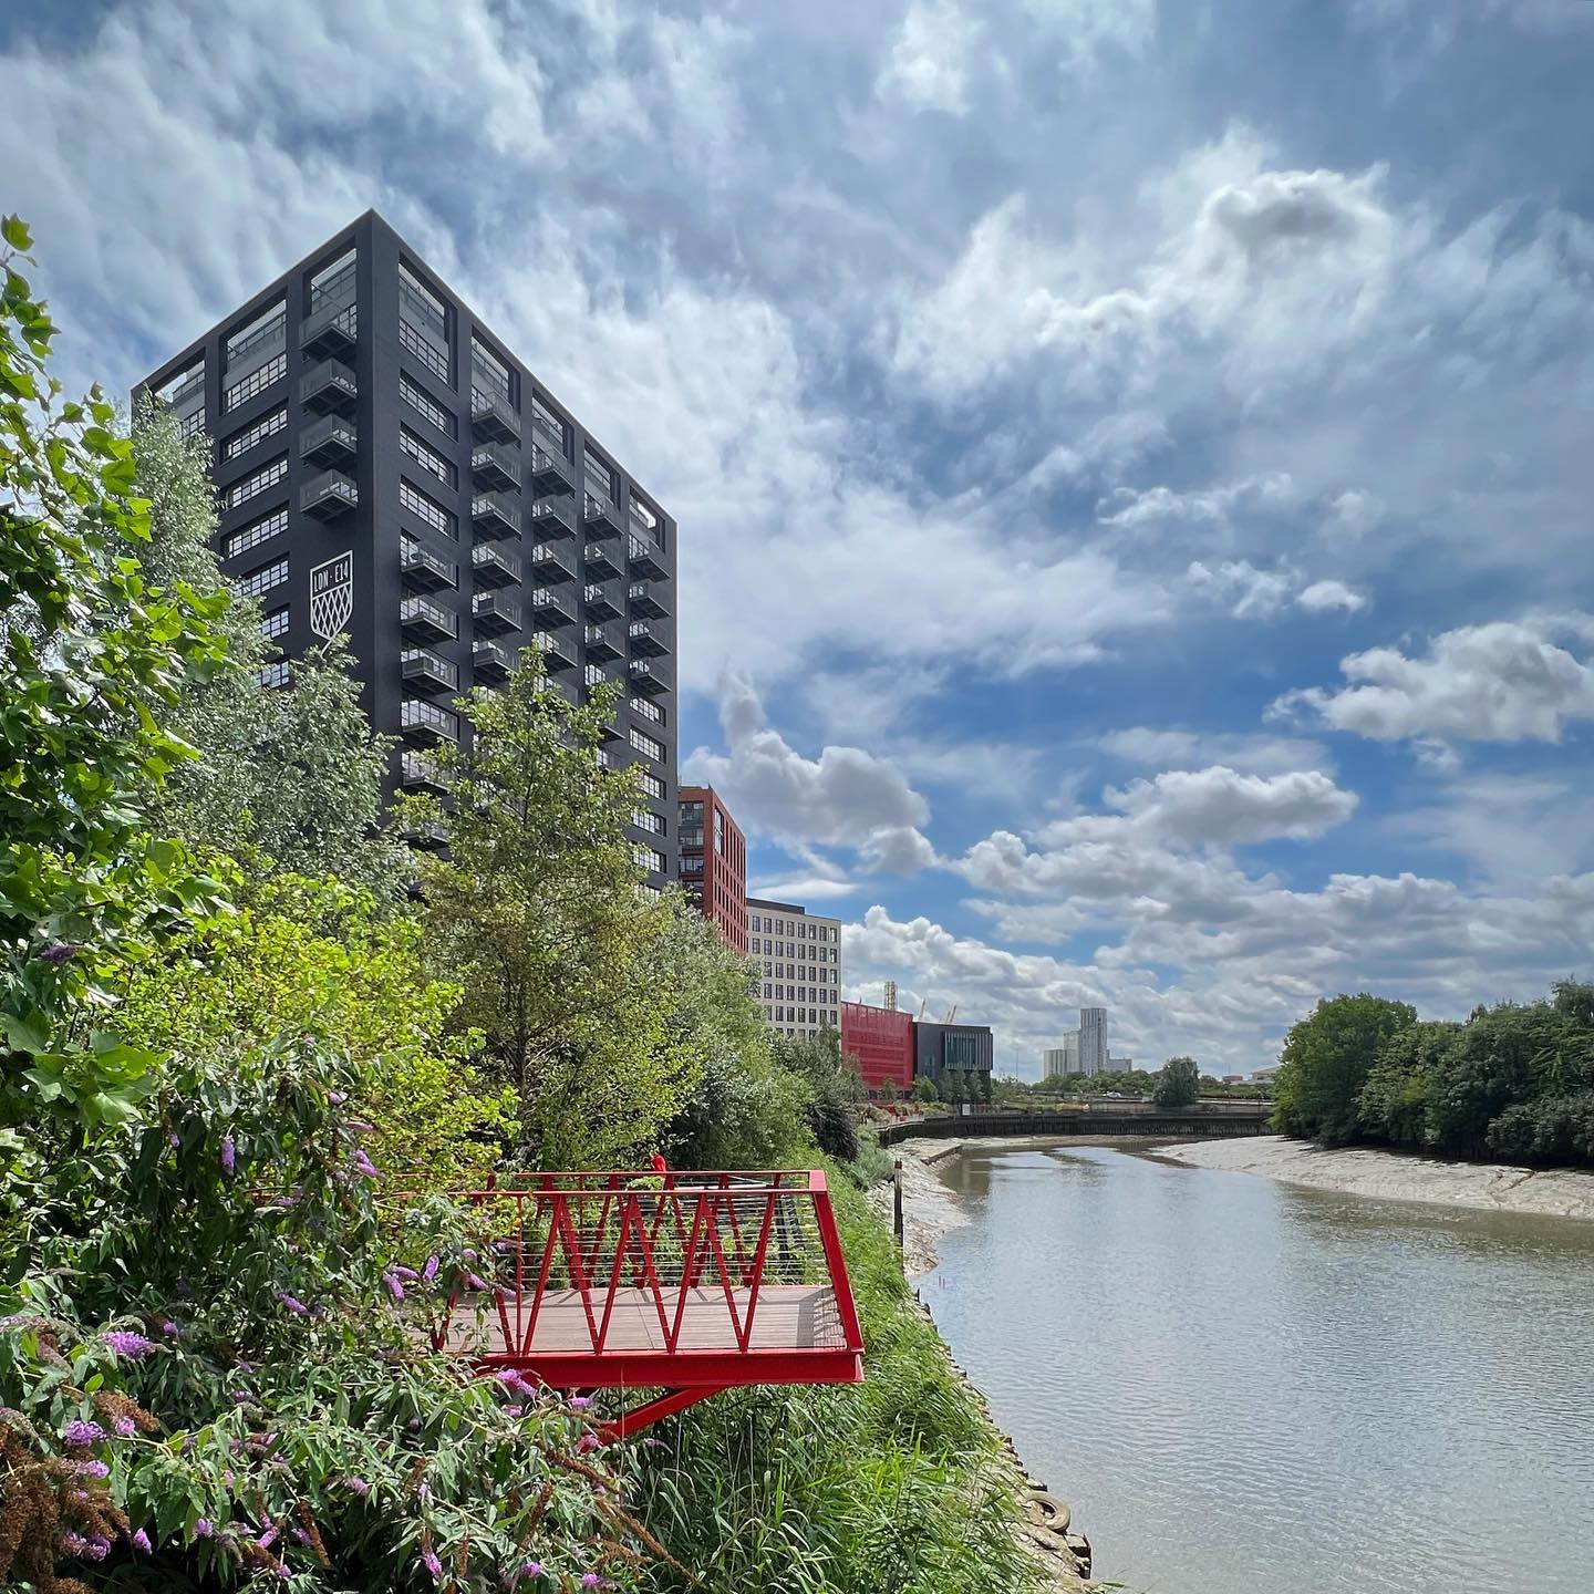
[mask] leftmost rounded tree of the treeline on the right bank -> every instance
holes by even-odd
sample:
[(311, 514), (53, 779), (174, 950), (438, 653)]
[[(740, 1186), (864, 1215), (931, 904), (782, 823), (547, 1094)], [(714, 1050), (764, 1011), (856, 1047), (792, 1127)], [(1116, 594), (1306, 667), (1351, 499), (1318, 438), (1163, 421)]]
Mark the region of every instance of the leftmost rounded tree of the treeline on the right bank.
[(1417, 1022), (1417, 1011), (1382, 996), (1325, 998), (1285, 1036), (1274, 1081), (1274, 1124), (1288, 1135), (1349, 1140), (1356, 1098), (1384, 1042)]

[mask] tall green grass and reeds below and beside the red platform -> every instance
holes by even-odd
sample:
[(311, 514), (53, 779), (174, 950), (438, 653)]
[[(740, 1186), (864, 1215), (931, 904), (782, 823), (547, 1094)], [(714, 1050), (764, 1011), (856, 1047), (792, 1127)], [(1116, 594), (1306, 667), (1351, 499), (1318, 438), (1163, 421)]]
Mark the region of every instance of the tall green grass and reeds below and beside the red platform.
[[(701, 1586), (748, 1594), (1035, 1588), (1001, 1441), (902, 1278), (889, 1232), (832, 1180), (867, 1382), (717, 1396), (634, 1454), (638, 1511)], [(654, 1562), (644, 1588), (693, 1584)]]

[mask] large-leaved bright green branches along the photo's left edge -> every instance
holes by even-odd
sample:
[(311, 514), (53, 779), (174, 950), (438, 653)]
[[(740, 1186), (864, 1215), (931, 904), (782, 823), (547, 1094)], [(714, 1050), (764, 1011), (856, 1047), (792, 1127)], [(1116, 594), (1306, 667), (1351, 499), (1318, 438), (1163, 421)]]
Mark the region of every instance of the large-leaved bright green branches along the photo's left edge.
[(155, 711), (210, 671), (220, 601), (150, 588), (132, 450), (96, 387), (61, 402), (56, 328), (0, 250), (0, 1129), (126, 1119), (150, 1058), (94, 1014), (118, 960), (215, 910), (142, 794), (188, 757)]

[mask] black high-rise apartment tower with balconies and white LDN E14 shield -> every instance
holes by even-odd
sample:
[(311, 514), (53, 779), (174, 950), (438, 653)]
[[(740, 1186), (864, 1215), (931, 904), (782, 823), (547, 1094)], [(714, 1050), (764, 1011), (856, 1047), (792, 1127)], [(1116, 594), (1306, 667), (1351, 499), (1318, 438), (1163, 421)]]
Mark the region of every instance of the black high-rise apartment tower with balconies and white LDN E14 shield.
[(601, 752), (641, 764), (633, 845), (676, 878), (676, 524), (375, 212), (142, 387), (214, 440), (222, 567), (292, 660), (347, 633), (362, 703), (437, 789), (451, 706), (536, 646), (572, 701), (622, 700)]

